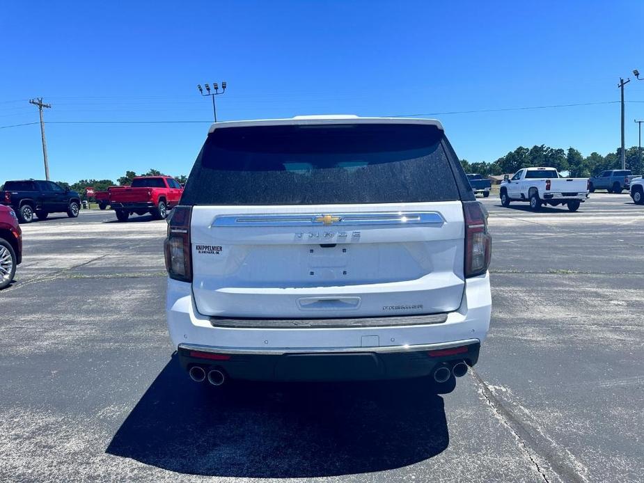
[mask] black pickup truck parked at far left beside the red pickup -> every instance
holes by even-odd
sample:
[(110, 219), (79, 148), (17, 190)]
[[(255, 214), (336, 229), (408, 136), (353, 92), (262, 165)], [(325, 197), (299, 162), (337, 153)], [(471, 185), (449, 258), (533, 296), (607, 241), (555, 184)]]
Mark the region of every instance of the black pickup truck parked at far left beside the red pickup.
[(33, 214), (44, 220), (49, 213), (67, 213), (76, 218), (81, 197), (51, 181), (8, 181), (0, 193), (0, 203), (13, 207), (21, 223), (31, 223)]

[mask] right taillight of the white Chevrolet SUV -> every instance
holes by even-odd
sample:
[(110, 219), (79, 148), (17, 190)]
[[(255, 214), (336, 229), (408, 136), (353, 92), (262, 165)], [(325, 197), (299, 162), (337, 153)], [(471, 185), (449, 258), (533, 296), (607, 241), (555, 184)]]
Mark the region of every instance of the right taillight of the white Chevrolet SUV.
[(487, 210), (478, 201), (464, 201), (465, 276), (485, 274), (492, 256), (492, 236), (487, 232)]

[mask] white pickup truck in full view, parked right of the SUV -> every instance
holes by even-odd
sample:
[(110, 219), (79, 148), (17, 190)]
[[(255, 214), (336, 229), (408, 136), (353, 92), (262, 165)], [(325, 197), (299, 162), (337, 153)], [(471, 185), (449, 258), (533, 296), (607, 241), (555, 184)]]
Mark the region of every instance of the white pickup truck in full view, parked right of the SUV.
[(576, 212), (588, 198), (588, 178), (562, 177), (555, 168), (523, 168), (501, 183), (501, 205), (512, 201), (528, 201), (537, 211), (542, 205), (567, 205)]

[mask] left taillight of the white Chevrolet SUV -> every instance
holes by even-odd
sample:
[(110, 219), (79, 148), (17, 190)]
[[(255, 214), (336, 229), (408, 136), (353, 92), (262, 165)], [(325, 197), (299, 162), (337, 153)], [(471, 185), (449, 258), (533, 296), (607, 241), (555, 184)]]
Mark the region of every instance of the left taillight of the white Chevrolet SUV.
[(192, 281), (190, 250), (190, 219), (192, 207), (178, 206), (168, 221), (168, 236), (164, 242), (168, 276), (182, 282)]

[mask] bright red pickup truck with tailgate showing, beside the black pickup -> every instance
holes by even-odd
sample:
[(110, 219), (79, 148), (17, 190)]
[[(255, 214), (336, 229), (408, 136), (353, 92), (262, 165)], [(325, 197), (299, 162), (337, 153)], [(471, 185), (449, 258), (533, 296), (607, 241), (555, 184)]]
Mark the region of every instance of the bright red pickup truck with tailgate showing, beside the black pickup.
[(151, 213), (162, 220), (168, 216), (168, 209), (178, 205), (183, 188), (170, 176), (139, 176), (131, 186), (110, 187), (107, 191), (118, 221), (127, 221), (132, 213)]

